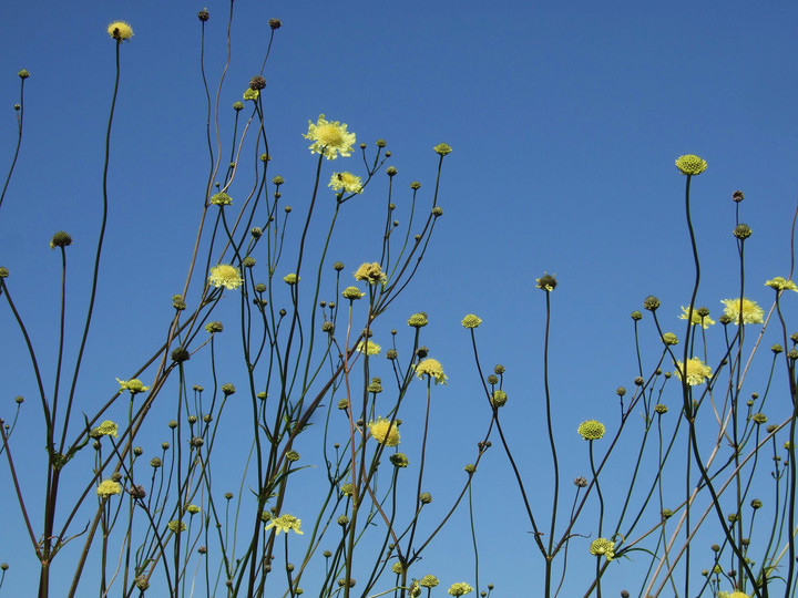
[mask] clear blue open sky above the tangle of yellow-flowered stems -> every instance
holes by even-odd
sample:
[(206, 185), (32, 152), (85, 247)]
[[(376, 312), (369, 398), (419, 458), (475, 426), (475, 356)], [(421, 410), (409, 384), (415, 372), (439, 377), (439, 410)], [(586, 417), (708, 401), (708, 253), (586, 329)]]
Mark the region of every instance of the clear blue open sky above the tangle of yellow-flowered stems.
[[(9, 280), (47, 357), (59, 276), (48, 241), (60, 229), (75, 239), (70, 259), (78, 306), (99, 224), (114, 60), (104, 28), (124, 19), (135, 30), (122, 49), (111, 162), (113, 240), (103, 258), (105, 278), (81, 379), (92, 403), (112, 394), (114, 378), (125, 378), (161, 339), (170, 297), (185, 278), (207, 164), (201, 8), (85, 0), (0, 8), (0, 164), (10, 162), (16, 141), (16, 73), (31, 72), (22, 152), (0, 214), (0, 265), (11, 270)], [(215, 81), (227, 9), (224, 2), (207, 8), (206, 66)], [(469, 312), (483, 319), (483, 363), (508, 369), (504, 416), (526, 457), (523, 471), (546, 478), (545, 466), (530, 457), (543, 451), (535, 443), (544, 434), (544, 297), (534, 279), (544, 270), (560, 280), (552, 298), (552, 392), (557, 434), (574, 448), (565, 448), (563, 472), (566, 480), (584, 473), (586, 452), (573, 440), (575, 426), (596, 417), (612, 427), (614, 389), (631, 386), (635, 375), (628, 313), (641, 309), (645, 296), (657, 295), (664, 326), (682, 333), (676, 317), (688, 301), (692, 258), (677, 156), (695, 153), (709, 164), (693, 182), (704, 264), (699, 305), (717, 316), (719, 300), (738, 292), (730, 234), (737, 188), (746, 194), (741, 219), (754, 230), (749, 296), (769, 306), (770, 291), (761, 283), (787, 276), (798, 188), (795, 3), (239, 0), (235, 11), (223, 106), (238, 100), (258, 71), (267, 19), (284, 23), (264, 73), (264, 105), (270, 145), (278, 148), (272, 172), (286, 178), (287, 203), (300, 208), (310, 188), (315, 161), (300, 134), (320, 113), (348, 123), (358, 142), (387, 140), (400, 188), (418, 179), (429, 192), (437, 165), (431, 147), (453, 147), (444, 163), (437, 236), (415, 286), (378, 329), (387, 341), (387, 331), (401, 329), (409, 315), (430, 316), (423, 343), (450, 378), (434, 396), (441, 457), (436, 496), (447, 492), (443, 462), (472, 461), (489, 416), (459, 324)], [(369, 223), (379, 217), (382, 199), (376, 187), (348, 205), (338, 248), (347, 267), (376, 259), (358, 244), (378, 247), (380, 226)], [(401, 219), (407, 205), (397, 204)], [(32, 390), (7, 307), (0, 318), (2, 337), (16, 339), (1, 343), (0, 359), (8, 372), (20, 374), (0, 383), (0, 414), (8, 417), (13, 396)], [(656, 348), (647, 330), (648, 347)], [(35, 434), (33, 402), (27, 408), (20, 425)], [(536, 555), (524, 525), (508, 523), (521, 511), (505, 460), (494, 451), (483, 463), (485, 475), (475, 483), (485, 514), (478, 522), (484, 534), (481, 579), (497, 584), (500, 596), (523, 595), (536, 582), (526, 565)], [(545, 482), (534, 485), (546, 492)], [(7, 517), (14, 516), (11, 497), (2, 504)], [(454, 527), (462, 525), (459, 519)], [(438, 549), (459, 554), (454, 547), (464, 540), (458, 538), (447, 536)], [(0, 539), (0, 560), (12, 556), (11, 590), (23, 582), (20, 573), (30, 561)], [(471, 569), (458, 573), (454, 560), (438, 564), (447, 570), (439, 577), (471, 579)]]

